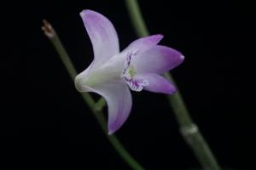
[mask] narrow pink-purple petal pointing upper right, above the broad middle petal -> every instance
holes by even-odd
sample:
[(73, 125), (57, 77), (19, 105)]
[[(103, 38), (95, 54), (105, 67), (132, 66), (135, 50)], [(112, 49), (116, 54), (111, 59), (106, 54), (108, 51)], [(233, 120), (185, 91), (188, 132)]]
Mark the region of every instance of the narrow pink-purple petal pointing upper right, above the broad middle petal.
[(134, 42), (125, 48), (122, 52), (126, 56), (126, 54), (140, 54), (147, 51), (149, 48), (154, 47), (160, 40), (163, 38), (163, 35), (157, 34), (149, 37), (142, 37), (137, 39)]

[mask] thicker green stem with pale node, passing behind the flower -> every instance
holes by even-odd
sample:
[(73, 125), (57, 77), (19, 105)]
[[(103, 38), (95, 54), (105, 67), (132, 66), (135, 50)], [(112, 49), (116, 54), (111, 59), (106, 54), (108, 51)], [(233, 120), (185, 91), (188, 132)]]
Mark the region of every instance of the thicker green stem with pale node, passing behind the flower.
[[(137, 32), (137, 36), (148, 36), (148, 29), (143, 20), (137, 0), (125, 0), (125, 3), (131, 17), (131, 22)], [(170, 73), (166, 73), (165, 77), (174, 82)], [(189, 116), (189, 111), (183, 102), (182, 95), (177, 90), (177, 93), (168, 95), (167, 97), (177, 118), (183, 138), (194, 151), (201, 166), (208, 170), (219, 170), (220, 167), (218, 166), (218, 161), (213, 156), (212, 151), (201, 135), (200, 130), (195, 125), (195, 122), (193, 122)]]

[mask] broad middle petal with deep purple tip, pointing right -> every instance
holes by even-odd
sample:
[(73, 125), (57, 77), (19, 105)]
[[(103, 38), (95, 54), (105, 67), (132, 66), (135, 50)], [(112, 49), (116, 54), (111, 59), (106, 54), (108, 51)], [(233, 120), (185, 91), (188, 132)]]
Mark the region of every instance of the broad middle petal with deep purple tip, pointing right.
[(131, 59), (137, 73), (158, 73), (170, 71), (183, 62), (183, 54), (175, 49), (156, 45)]

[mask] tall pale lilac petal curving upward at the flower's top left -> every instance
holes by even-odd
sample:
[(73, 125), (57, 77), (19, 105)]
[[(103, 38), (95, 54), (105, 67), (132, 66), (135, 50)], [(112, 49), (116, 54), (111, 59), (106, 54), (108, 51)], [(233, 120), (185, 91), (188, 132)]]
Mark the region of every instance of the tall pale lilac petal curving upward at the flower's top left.
[(119, 54), (119, 40), (112, 23), (92, 10), (83, 10), (80, 15), (92, 43), (95, 65), (101, 65)]

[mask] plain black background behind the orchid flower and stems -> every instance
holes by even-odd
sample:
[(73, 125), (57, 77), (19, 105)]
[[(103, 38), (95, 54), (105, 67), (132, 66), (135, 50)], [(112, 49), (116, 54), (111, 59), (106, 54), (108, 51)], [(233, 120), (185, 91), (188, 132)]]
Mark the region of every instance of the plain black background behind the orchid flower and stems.
[[(151, 34), (185, 58), (172, 71), (191, 116), (223, 167), (253, 169), (255, 8), (242, 1), (140, 1)], [(255, 6), (254, 6), (255, 7)], [(125, 48), (135, 40), (124, 1), (9, 1), (1, 5), (0, 167), (130, 169), (84, 105), (41, 31), (49, 20), (77, 70), (93, 59), (79, 12), (113, 22)], [(199, 167), (162, 94), (133, 93), (116, 133), (147, 169)], [(3, 168), (4, 169), (4, 168)]]

